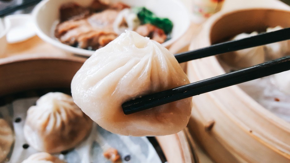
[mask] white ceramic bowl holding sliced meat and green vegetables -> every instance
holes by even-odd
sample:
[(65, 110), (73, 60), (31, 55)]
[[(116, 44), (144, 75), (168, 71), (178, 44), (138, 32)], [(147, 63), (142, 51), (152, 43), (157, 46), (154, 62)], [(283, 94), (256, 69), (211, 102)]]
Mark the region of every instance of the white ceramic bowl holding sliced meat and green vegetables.
[[(59, 7), (66, 2), (76, 2), (88, 6), (92, 0), (44, 0), (32, 11), (36, 24), (36, 34), (44, 41), (73, 54), (91, 56), (94, 51), (75, 48), (62, 44), (53, 36), (53, 25), (59, 19)], [(168, 47), (182, 36), (190, 25), (190, 15), (186, 7), (177, 0), (110, 0), (110, 2), (124, 2), (130, 6), (145, 6), (159, 17), (167, 17), (173, 22), (172, 38), (162, 45)]]

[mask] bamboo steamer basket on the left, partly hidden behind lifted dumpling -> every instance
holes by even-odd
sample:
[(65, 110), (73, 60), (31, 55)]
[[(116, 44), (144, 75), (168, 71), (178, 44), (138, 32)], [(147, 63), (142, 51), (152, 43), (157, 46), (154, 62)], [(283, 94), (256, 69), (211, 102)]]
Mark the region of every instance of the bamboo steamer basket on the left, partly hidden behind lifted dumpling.
[[(0, 101), (23, 91), (70, 88), (85, 58), (72, 56), (24, 55), (0, 59)], [(194, 143), (184, 129), (173, 135), (156, 137), (168, 163), (198, 163)]]

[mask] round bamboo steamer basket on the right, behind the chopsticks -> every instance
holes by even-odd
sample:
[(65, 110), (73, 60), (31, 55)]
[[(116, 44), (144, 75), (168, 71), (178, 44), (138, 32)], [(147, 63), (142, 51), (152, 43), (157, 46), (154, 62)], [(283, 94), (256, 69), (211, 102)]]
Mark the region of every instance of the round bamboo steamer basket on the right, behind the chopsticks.
[[(203, 24), (190, 50), (277, 25), (290, 27), (289, 11), (249, 9), (219, 13)], [(224, 73), (215, 56), (188, 62), (191, 82)], [(193, 104), (188, 127), (215, 162), (290, 162), (290, 124), (263, 108), (238, 86), (195, 96)]]

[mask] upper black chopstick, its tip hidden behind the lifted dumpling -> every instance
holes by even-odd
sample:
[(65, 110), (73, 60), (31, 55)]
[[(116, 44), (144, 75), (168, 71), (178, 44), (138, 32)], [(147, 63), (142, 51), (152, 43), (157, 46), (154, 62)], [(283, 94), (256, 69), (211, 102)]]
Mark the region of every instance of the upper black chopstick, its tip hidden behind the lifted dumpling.
[(235, 50), (266, 45), (273, 42), (284, 41), (288, 39), (290, 39), (290, 28), (284, 28), (273, 32), (267, 32), (256, 36), (247, 37), (240, 40), (227, 41), (211, 45), (205, 48), (176, 54), (175, 58), (179, 63), (182, 63), (194, 59), (209, 57), (216, 54), (222, 54)]

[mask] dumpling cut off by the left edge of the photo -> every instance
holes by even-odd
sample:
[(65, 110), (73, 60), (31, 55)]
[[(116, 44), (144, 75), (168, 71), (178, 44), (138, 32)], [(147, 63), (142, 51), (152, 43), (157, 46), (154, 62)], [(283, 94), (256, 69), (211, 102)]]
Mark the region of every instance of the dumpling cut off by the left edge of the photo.
[(0, 162), (4, 161), (11, 150), (13, 132), (10, 125), (0, 118)]

